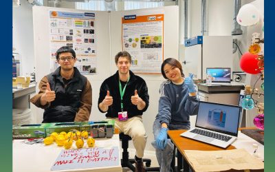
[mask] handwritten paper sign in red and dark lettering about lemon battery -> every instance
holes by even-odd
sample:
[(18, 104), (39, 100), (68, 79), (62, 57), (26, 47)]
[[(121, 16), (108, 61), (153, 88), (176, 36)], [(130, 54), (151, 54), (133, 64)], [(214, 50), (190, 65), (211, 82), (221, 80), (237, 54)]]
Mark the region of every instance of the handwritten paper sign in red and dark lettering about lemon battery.
[(87, 169), (103, 166), (118, 166), (118, 147), (103, 147), (62, 150), (52, 166), (54, 170)]

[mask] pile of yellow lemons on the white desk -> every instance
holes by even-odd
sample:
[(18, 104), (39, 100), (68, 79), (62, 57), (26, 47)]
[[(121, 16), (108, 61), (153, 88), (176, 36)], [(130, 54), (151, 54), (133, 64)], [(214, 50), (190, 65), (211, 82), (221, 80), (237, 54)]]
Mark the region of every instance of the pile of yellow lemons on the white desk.
[(72, 147), (72, 144), (76, 141), (76, 147), (78, 149), (83, 148), (85, 141), (87, 142), (88, 147), (94, 147), (94, 144), (96, 140), (94, 138), (89, 136), (88, 131), (69, 131), (66, 133), (65, 131), (62, 131), (61, 133), (53, 132), (50, 136), (47, 138), (44, 138), (44, 144), (50, 145), (53, 142), (56, 142), (56, 144), (59, 147), (65, 147), (65, 149), (70, 149)]

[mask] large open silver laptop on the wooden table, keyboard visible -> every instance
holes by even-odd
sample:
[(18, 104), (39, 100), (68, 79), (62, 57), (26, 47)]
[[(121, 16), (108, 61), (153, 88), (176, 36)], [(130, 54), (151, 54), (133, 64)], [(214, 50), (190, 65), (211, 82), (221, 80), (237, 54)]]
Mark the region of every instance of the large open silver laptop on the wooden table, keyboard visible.
[(241, 107), (199, 101), (195, 127), (180, 136), (226, 148), (238, 136)]

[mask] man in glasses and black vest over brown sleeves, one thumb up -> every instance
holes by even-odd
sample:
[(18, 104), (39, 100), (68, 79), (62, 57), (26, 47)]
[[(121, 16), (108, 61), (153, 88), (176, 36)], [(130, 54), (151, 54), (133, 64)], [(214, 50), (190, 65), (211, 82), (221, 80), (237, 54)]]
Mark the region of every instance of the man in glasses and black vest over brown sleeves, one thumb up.
[(60, 67), (41, 79), (39, 94), (30, 101), (45, 109), (43, 122), (89, 120), (91, 84), (74, 67), (76, 52), (70, 47), (61, 47), (56, 52), (56, 61)]

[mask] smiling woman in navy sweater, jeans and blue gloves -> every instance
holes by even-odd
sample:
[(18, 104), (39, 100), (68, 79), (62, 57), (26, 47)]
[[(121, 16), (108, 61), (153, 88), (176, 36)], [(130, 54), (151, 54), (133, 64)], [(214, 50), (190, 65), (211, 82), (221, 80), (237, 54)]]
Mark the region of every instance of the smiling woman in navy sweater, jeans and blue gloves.
[(159, 109), (153, 124), (157, 162), (160, 171), (171, 171), (174, 144), (167, 138), (168, 129), (190, 129), (190, 116), (197, 114), (199, 100), (192, 75), (184, 77), (181, 63), (167, 58), (162, 63), (162, 76), (167, 80), (159, 88)]

